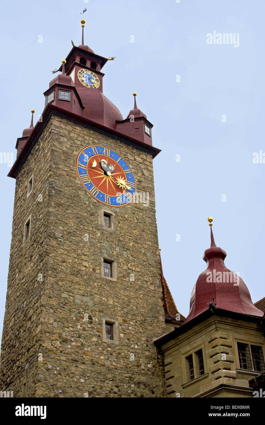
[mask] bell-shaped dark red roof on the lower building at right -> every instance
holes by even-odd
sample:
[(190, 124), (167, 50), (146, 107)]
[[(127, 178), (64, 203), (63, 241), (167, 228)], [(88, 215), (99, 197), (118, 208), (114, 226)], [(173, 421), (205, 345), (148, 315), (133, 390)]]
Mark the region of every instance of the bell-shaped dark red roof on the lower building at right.
[(263, 312), (254, 306), (246, 284), (227, 269), (224, 264), (226, 252), (217, 247), (211, 228), (211, 247), (206, 249), (203, 259), (207, 269), (199, 275), (191, 292), (190, 311), (184, 323), (209, 309), (214, 298), (216, 308), (231, 312), (262, 317)]

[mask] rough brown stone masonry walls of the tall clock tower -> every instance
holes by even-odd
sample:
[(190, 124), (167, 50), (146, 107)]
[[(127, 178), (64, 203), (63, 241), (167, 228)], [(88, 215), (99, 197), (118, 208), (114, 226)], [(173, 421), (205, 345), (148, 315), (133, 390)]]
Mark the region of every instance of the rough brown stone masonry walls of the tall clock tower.
[[(137, 191), (149, 193), (148, 207), (108, 207), (112, 232), (101, 221), (105, 205), (77, 176), (77, 154), (89, 144), (119, 153)], [(102, 276), (104, 256), (117, 262), (117, 280)], [(103, 338), (105, 320), (115, 323), (115, 341)], [(151, 154), (51, 116), (17, 175), (0, 389), (14, 397), (165, 397), (153, 344), (164, 333)]]

